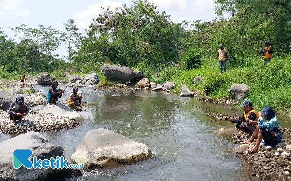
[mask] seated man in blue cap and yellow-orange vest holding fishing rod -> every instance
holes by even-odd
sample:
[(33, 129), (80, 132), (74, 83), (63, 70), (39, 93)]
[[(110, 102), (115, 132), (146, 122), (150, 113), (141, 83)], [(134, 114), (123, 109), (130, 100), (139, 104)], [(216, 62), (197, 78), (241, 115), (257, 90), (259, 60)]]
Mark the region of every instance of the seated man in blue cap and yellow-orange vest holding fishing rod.
[(245, 100), (242, 103), (241, 107), (244, 112), (240, 118), (235, 119), (231, 117), (226, 117), (226, 120), (232, 123), (237, 123), (237, 129), (249, 135), (252, 135), (258, 125), (259, 115), (257, 111), (252, 108), (252, 102), (250, 100)]

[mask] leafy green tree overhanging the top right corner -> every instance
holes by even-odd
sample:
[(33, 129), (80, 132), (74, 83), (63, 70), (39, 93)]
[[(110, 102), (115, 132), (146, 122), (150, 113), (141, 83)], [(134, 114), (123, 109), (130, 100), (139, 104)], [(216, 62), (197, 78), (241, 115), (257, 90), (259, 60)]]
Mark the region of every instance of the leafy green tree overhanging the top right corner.
[(216, 14), (230, 12), (242, 32), (253, 39), (268, 40), (281, 53), (291, 49), (290, 0), (216, 0)]

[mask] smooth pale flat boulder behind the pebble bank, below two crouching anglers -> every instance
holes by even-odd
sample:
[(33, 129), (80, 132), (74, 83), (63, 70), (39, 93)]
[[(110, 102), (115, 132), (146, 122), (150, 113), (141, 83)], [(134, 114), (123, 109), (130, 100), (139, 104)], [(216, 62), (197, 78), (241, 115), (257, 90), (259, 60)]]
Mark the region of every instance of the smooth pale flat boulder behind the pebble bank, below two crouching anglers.
[(84, 118), (82, 118), (78, 112), (72, 110), (71, 108), (63, 104), (47, 105), (44, 109), (40, 110), (39, 112), (51, 113), (56, 116), (68, 117), (69, 119), (75, 119), (78, 121), (84, 120)]

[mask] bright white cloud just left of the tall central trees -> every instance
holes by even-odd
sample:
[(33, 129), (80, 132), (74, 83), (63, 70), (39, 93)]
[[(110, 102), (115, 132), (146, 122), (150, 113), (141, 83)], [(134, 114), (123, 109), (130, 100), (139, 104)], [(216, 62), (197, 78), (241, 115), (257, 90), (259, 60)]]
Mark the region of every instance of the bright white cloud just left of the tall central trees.
[(72, 17), (76, 22), (77, 28), (84, 29), (88, 28), (90, 22), (92, 22), (93, 19), (96, 19), (99, 14), (102, 13), (102, 10), (100, 6), (107, 8), (110, 7), (110, 10), (113, 12), (115, 11), (116, 7), (120, 7), (123, 3), (121, 2), (114, 2), (110, 0), (103, 0), (102, 2), (90, 5), (85, 11), (73, 13)]

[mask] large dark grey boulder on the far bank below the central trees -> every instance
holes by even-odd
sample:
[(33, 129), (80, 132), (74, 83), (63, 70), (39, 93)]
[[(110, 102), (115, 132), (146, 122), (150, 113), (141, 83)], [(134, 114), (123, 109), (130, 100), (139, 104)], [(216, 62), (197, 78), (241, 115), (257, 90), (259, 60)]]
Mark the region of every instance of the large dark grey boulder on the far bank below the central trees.
[(129, 67), (120, 67), (118, 65), (104, 64), (100, 67), (100, 69), (102, 70), (106, 79), (113, 81), (134, 82), (143, 77), (140, 71), (132, 70)]

